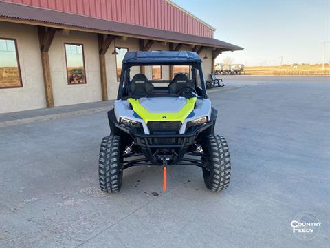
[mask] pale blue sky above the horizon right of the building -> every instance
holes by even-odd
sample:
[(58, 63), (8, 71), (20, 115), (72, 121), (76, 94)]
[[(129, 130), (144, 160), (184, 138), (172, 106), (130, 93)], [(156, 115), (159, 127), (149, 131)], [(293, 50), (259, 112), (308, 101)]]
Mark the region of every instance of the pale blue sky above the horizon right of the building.
[[(173, 0), (217, 30), (214, 38), (244, 48), (223, 52), (248, 66), (322, 63), (323, 46), (330, 41), (330, 0), (221, 1)], [(330, 60), (330, 44), (326, 45)]]

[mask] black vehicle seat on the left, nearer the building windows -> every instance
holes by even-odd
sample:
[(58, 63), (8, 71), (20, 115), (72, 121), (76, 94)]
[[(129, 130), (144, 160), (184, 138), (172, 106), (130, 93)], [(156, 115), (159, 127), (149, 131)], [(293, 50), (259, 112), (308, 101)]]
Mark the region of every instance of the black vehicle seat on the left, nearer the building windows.
[(146, 75), (139, 73), (133, 76), (128, 90), (129, 96), (146, 96), (153, 94), (153, 84), (148, 81)]

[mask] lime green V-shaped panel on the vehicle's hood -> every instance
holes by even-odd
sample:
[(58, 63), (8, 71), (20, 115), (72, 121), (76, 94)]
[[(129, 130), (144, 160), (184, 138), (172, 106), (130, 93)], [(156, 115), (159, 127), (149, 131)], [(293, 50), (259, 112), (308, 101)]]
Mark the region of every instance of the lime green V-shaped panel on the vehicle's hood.
[(181, 121), (184, 123), (184, 120), (187, 116), (194, 110), (195, 103), (197, 101), (196, 97), (186, 99), (186, 105), (181, 107), (181, 110), (178, 112), (162, 112), (162, 113), (153, 113), (146, 110), (146, 108), (140, 104), (139, 99), (127, 99), (131, 103), (134, 112), (138, 114), (146, 123), (148, 121)]

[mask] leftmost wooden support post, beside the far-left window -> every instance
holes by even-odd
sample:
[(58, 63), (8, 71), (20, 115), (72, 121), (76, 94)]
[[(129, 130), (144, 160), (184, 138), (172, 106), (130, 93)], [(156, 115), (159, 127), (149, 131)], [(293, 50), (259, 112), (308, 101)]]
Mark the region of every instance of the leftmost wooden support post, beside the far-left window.
[(54, 107), (52, 89), (52, 77), (50, 75), (50, 56), (48, 51), (54, 39), (56, 28), (38, 27), (39, 44), (41, 51), (41, 65), (43, 66), (43, 83), (45, 85), (45, 97), (47, 107)]

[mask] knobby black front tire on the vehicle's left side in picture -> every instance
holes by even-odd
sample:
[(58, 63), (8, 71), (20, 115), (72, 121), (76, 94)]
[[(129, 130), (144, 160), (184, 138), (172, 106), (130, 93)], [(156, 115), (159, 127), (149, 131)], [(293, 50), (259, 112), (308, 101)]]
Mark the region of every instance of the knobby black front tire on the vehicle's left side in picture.
[(98, 178), (102, 191), (120, 191), (122, 187), (120, 136), (110, 135), (102, 139), (98, 161)]

